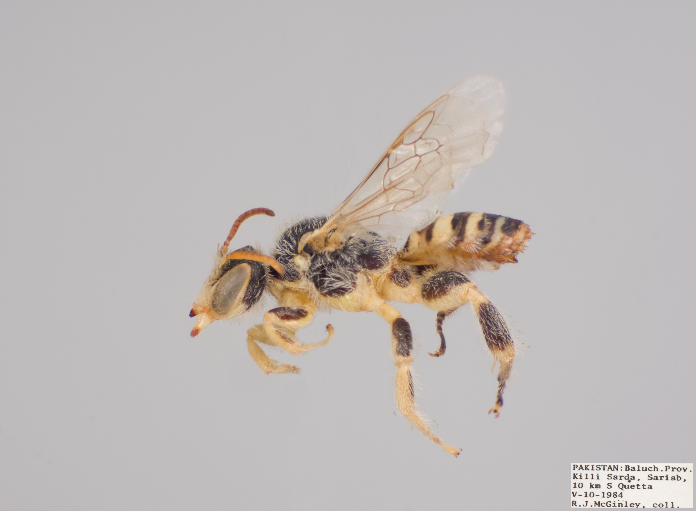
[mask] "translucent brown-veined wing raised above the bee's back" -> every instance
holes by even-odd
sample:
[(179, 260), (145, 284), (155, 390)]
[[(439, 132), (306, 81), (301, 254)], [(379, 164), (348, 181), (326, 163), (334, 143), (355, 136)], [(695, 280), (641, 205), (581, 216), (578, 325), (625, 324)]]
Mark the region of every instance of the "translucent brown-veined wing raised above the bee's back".
[(452, 87), (411, 121), (320, 231), (432, 222), (457, 177), (493, 153), (504, 103), (503, 85), (492, 78)]

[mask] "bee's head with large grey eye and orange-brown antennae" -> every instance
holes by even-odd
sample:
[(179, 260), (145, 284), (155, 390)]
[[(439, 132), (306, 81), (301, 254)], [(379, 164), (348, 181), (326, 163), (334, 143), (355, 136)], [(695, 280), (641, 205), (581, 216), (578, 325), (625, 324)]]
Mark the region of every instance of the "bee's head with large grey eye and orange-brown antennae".
[(191, 307), (189, 316), (198, 316), (191, 337), (196, 337), (200, 330), (216, 319), (239, 316), (258, 303), (266, 285), (269, 266), (281, 275), (285, 273), (285, 268), (278, 261), (256, 252), (251, 246), (227, 253), (239, 225), (246, 218), (258, 214), (274, 216), (273, 211), (265, 208), (247, 211), (237, 218), (227, 240), (220, 247), (212, 273), (203, 283)]

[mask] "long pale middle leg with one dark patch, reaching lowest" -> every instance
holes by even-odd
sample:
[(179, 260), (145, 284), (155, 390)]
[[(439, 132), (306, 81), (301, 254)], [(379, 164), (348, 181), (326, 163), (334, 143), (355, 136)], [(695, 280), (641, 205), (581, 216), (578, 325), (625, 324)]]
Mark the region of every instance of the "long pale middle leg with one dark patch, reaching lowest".
[(399, 311), (394, 307), (384, 303), (377, 309), (385, 321), (390, 323), (392, 328), (392, 352), (394, 353), (394, 365), (396, 365), (396, 399), (399, 411), (416, 426), (422, 434), (440, 445), (441, 448), (454, 455), (459, 455), (461, 449), (453, 448), (451, 445), (443, 443), (425, 425), (420, 415), (415, 409), (413, 402), (413, 376), (411, 375), (411, 363), (413, 362), (413, 338), (411, 337), (411, 326), (409, 322), (402, 318)]

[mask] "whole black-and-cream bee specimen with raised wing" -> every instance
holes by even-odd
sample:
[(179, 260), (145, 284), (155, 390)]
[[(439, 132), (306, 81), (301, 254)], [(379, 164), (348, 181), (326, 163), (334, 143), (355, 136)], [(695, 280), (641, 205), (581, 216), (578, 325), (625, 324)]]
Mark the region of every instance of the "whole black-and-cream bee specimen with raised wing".
[[(489, 213), (438, 216), (454, 183), (489, 158), (500, 136), (505, 91), (488, 77), (454, 86), (416, 116), (379, 158), (363, 182), (333, 214), (307, 218), (280, 236), (271, 256), (251, 246), (228, 252), (239, 225), (253, 215), (274, 216), (267, 208), (243, 213), (216, 253), (214, 269), (193, 302), (195, 337), (217, 319), (244, 314), (264, 293), (278, 307), (250, 328), (246, 344), (251, 358), (266, 373), (300, 372), (299, 367), (271, 360), (262, 344), (297, 355), (323, 346), (333, 336), (303, 344), (296, 332), (319, 309), (377, 312), (391, 328), (400, 412), (411, 425), (455, 457), (461, 449), (437, 438), (415, 409), (411, 327), (390, 303), (422, 303), (437, 312), (440, 346), (447, 316), (470, 303), (486, 344), (499, 364), (497, 418), (515, 355), (503, 316), (471, 280), (475, 270), (496, 270), (516, 263), (532, 236), (528, 224)], [(411, 231), (396, 246), (394, 229)]]

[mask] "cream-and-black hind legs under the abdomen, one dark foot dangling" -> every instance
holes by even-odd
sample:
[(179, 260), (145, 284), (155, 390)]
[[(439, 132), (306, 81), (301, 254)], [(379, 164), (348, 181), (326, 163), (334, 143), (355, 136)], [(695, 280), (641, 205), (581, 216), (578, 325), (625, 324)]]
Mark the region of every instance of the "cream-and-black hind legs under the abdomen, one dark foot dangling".
[[(423, 282), (421, 288), (422, 302), (438, 313), (438, 327), (441, 326), (441, 314), (450, 314), (457, 307), (470, 302), (478, 316), (479, 324), (484, 339), (491, 351), (493, 358), (500, 364), (498, 370), (498, 394), (496, 404), (488, 413), (496, 417), (500, 414), (500, 406), (503, 406), (503, 390), (505, 382), (512, 368), (512, 360), (515, 356), (514, 342), (507, 329), (505, 320), (495, 306), (486, 296), (477, 289), (476, 284), (464, 275), (454, 270), (446, 270), (435, 273)], [(448, 312), (443, 312), (448, 311)], [(444, 319), (444, 316), (442, 316)], [(441, 351), (444, 353), (444, 335), (441, 335)], [(439, 353), (439, 352), (438, 352)], [(438, 356), (438, 353), (435, 356)], [(439, 353), (439, 354), (442, 354)], [(495, 365), (495, 363), (493, 363)]]

